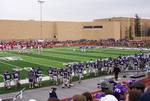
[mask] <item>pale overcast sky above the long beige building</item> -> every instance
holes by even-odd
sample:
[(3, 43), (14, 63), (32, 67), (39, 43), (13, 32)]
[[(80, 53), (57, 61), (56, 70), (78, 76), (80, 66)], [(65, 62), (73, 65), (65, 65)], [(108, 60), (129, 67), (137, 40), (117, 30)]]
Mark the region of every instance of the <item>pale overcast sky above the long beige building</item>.
[[(92, 21), (108, 17), (150, 18), (150, 0), (45, 0), (43, 20)], [(0, 19), (39, 20), (37, 0), (0, 0)]]

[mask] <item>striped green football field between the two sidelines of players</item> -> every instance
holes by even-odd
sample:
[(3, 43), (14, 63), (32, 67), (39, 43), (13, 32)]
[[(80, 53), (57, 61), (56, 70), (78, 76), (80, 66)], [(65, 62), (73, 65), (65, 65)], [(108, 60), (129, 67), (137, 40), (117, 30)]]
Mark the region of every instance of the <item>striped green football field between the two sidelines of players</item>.
[[(76, 51), (73, 51), (76, 49)], [(131, 54), (138, 54), (139, 51), (134, 50), (119, 50), (119, 49), (89, 49), (87, 52), (80, 52), (78, 47), (64, 47), (44, 49), (41, 54), (36, 50), (32, 53), (18, 53), (16, 51), (0, 52), (0, 57), (20, 57), (22, 60), (17, 61), (4, 61), (0, 60), (0, 74), (5, 70), (12, 71), (13, 69), (22, 69), (21, 78), (27, 77), (27, 68), (29, 67), (42, 67), (44, 75), (48, 75), (49, 67), (63, 68), (64, 64), (70, 62), (84, 62), (90, 59), (102, 58), (116, 58), (119, 55), (126, 56)], [(0, 76), (0, 82), (3, 81)]]

